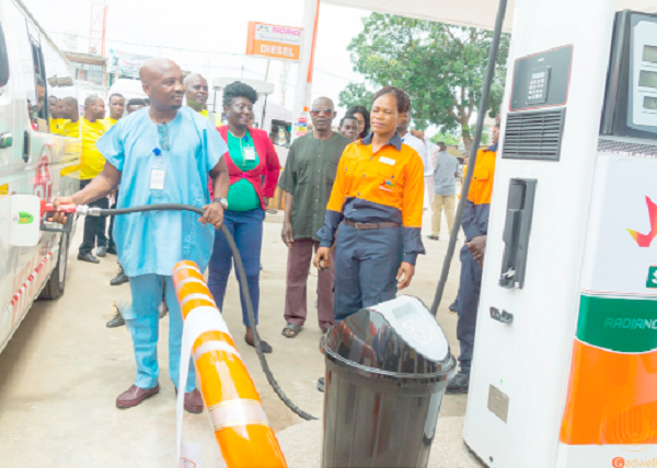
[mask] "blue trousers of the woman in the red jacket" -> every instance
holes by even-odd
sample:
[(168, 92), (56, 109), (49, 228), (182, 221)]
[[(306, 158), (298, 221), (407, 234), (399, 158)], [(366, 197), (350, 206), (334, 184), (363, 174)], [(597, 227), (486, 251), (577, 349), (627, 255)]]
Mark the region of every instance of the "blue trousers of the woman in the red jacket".
[[(244, 271), (246, 272), (246, 282), (249, 283), (249, 294), (253, 303), (255, 315), (255, 325), (257, 325), (257, 311), (260, 305), (260, 260), (263, 246), (263, 221), (265, 210), (256, 208), (250, 211), (230, 211), (223, 213), (223, 225), (235, 239)], [(208, 289), (215, 297), (219, 311), (223, 313), (223, 297), (226, 296), (226, 286), (228, 277), (232, 269), (232, 253), (228, 246), (226, 237), (221, 231), (215, 232), (215, 249), (208, 264), (209, 277)], [(239, 280), (238, 280), (239, 282)], [(242, 303), (242, 321), (249, 326), (249, 316), (244, 305), (244, 291), (240, 284), (240, 301)]]

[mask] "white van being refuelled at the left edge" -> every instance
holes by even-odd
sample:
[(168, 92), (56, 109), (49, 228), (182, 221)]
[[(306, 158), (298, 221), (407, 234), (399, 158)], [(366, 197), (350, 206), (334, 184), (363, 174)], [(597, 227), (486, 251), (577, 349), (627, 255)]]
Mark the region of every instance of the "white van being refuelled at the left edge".
[(53, 40), (20, 0), (0, 0), (0, 351), (35, 299), (64, 293), (70, 239), (42, 232), (36, 247), (11, 246), (10, 200), (79, 189), (80, 138), (57, 134), (53, 118), (57, 100), (76, 96), (73, 69)]

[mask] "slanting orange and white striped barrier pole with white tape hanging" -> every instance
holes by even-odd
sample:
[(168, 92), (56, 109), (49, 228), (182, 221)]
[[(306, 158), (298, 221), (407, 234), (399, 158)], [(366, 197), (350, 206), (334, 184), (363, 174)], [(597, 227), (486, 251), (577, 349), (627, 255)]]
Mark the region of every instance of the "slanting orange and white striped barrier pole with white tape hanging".
[[(185, 321), (178, 388), (185, 388), (187, 381), (189, 360), (184, 356), (192, 354), (203, 400), (226, 466), (287, 467), (260, 395), (198, 267), (192, 261), (181, 261), (172, 277)], [(183, 398), (184, 393), (180, 391), (178, 458)]]

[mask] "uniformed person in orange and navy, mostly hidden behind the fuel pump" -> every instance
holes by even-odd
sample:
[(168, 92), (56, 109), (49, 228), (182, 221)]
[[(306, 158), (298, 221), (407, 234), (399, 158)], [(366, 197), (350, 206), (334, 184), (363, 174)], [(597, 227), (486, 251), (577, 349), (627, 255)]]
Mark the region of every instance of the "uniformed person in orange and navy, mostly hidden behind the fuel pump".
[(451, 395), (466, 394), (470, 387), (470, 366), (474, 350), (476, 309), (482, 290), (482, 267), (486, 253), (498, 140), (499, 122), (496, 122), (493, 128), (493, 144), (477, 151), (468, 202), (461, 221), (465, 233), (465, 245), (461, 249), (461, 284), (457, 301), (459, 313), (457, 338), (461, 344), (459, 356), (461, 372), (447, 386), (446, 391)]

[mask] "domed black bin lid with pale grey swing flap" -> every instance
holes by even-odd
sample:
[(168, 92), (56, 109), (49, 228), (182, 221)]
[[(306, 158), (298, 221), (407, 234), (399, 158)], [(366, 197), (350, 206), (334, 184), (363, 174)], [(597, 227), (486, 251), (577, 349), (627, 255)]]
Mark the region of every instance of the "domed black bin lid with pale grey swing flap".
[(334, 362), (390, 376), (443, 375), (454, 366), (442, 328), (407, 295), (350, 315), (331, 329), (323, 348)]

